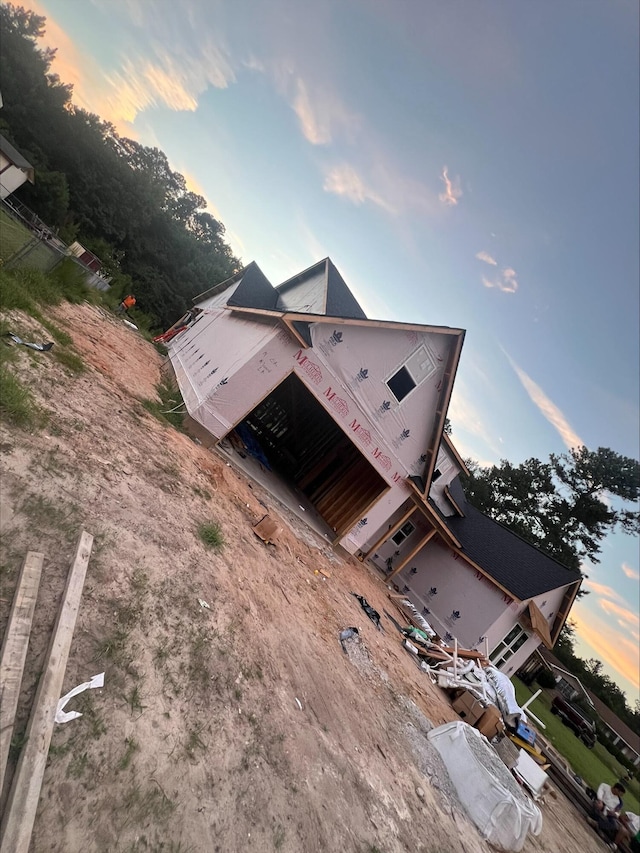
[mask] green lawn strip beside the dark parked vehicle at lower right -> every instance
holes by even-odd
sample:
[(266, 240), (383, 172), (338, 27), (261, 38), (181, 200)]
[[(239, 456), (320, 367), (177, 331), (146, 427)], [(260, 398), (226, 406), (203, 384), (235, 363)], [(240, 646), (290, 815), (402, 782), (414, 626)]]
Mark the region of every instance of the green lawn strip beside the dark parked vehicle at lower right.
[[(532, 692), (518, 678), (512, 678), (516, 689), (518, 704), (522, 705), (531, 696)], [(577, 773), (589, 787), (597, 790), (601, 782), (612, 785), (618, 779), (624, 779), (626, 769), (607, 751), (606, 744), (596, 743), (593, 749), (587, 749), (579, 738), (567, 726), (551, 713), (551, 697), (543, 692), (531, 706), (532, 712), (547, 727), (544, 736), (569, 762), (574, 772)], [(623, 797), (625, 810), (629, 809), (638, 814), (640, 804), (638, 802), (638, 781), (625, 782), (627, 793)]]

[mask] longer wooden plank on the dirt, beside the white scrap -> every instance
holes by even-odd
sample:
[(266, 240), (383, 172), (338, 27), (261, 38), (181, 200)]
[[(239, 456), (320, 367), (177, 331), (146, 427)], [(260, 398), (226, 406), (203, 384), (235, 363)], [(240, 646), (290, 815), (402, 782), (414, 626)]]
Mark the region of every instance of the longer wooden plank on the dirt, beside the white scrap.
[(0, 830), (0, 849), (10, 850), (11, 853), (28, 853), (29, 850), (56, 707), (62, 691), (92, 545), (93, 536), (83, 530), (67, 576), (44, 671), (31, 709), (26, 742), (18, 759)]

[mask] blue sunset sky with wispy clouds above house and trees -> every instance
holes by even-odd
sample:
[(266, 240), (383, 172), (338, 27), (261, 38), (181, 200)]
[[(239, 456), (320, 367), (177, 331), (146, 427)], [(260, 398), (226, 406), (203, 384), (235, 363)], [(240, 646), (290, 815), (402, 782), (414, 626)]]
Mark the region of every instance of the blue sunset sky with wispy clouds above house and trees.
[[(464, 456), (639, 452), (637, 0), (37, 0), (81, 106), (163, 149), (274, 282), (467, 330)], [(638, 697), (637, 540), (578, 651)]]

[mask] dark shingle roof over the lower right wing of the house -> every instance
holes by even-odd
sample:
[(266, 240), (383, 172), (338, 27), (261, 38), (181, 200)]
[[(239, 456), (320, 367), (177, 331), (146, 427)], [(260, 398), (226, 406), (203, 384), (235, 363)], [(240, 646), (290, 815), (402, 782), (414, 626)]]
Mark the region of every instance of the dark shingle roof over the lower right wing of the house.
[(472, 506), (464, 496), (459, 477), (450, 483), (449, 491), (464, 518), (440, 514), (442, 520), (469, 559), (516, 598), (527, 601), (580, 580), (580, 572), (563, 566)]

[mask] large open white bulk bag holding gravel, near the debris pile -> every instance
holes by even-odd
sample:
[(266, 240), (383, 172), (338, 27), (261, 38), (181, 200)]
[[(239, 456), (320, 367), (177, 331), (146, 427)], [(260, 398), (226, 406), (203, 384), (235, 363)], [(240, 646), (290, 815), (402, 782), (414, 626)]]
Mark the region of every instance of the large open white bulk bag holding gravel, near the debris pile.
[(526, 797), (484, 735), (457, 722), (432, 729), (428, 738), (486, 841), (499, 850), (518, 853), (529, 832), (540, 834), (540, 809)]

